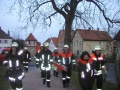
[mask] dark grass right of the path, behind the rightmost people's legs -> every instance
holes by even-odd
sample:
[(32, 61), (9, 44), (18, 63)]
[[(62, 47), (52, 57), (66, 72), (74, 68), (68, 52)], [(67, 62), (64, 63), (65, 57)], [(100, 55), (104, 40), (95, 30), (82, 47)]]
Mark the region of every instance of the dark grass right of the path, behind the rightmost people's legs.
[[(82, 90), (78, 81), (78, 73), (76, 71), (72, 72), (70, 84), (71, 84), (72, 90)], [(92, 90), (96, 90), (96, 83), (94, 83)], [(110, 82), (104, 82), (102, 90), (119, 90), (119, 89), (116, 84), (113, 84)]]

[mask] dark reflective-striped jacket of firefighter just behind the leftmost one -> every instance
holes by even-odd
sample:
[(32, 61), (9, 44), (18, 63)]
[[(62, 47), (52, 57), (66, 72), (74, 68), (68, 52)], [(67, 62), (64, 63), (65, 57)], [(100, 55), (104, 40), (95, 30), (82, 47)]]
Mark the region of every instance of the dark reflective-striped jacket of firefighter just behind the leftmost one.
[(23, 60), (23, 62), (31, 61), (31, 54), (28, 50), (20, 50), (18, 55), (20, 56), (21, 60)]

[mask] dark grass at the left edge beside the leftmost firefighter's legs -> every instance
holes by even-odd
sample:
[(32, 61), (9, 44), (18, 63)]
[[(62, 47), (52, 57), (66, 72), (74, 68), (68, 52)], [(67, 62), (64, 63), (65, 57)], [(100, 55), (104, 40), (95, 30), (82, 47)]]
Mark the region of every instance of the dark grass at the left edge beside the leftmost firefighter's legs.
[(9, 89), (9, 82), (5, 78), (6, 67), (0, 65), (0, 90), (8, 90)]

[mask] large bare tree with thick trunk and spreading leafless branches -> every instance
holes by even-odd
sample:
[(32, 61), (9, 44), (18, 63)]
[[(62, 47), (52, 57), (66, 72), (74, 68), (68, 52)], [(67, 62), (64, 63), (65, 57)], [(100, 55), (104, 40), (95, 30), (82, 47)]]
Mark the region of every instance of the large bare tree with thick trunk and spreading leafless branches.
[(20, 17), (26, 21), (24, 29), (29, 25), (46, 28), (51, 25), (53, 17), (64, 22), (64, 43), (70, 45), (74, 27), (107, 25), (110, 30), (119, 26), (119, 7), (119, 0), (15, 0), (11, 10), (19, 9)]

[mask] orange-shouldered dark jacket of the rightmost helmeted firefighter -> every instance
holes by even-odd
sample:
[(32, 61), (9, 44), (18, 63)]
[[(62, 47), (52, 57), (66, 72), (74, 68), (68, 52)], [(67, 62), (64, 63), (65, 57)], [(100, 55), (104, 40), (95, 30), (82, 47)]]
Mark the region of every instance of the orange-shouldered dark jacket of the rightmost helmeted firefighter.
[(96, 55), (95, 53), (91, 54), (94, 63), (94, 75), (102, 74), (102, 68), (105, 67), (105, 61), (103, 58), (103, 54)]

